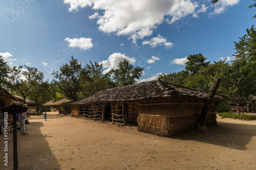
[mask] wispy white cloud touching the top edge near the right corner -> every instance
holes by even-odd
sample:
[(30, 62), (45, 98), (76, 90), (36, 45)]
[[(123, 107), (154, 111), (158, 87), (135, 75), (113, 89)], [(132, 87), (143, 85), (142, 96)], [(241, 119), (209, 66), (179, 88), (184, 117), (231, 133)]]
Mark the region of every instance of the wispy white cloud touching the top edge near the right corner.
[(209, 16), (214, 14), (221, 14), (227, 7), (237, 5), (240, 1), (241, 0), (220, 0), (217, 4), (214, 5), (214, 12), (209, 13)]

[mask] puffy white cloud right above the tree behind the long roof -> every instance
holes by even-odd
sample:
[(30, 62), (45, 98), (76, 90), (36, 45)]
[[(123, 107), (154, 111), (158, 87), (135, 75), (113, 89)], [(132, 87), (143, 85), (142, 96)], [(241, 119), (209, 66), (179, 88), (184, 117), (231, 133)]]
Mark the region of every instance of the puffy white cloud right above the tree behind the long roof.
[(112, 68), (117, 68), (119, 62), (127, 60), (130, 64), (134, 64), (136, 62), (136, 59), (134, 57), (127, 57), (124, 54), (121, 53), (114, 53), (109, 56), (108, 60), (103, 60), (99, 62), (99, 64), (102, 64), (103, 68), (106, 68), (103, 73), (109, 72)]

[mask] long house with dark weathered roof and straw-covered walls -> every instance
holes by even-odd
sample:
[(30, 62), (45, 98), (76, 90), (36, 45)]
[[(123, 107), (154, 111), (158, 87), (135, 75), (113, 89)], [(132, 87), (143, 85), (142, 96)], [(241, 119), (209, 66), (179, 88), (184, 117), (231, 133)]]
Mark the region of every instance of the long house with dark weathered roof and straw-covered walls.
[[(138, 131), (172, 136), (192, 129), (208, 92), (154, 80), (98, 91), (70, 102), (72, 115), (87, 119), (110, 119), (114, 124), (137, 123)], [(206, 116), (215, 125), (214, 102), (226, 100), (216, 94)]]

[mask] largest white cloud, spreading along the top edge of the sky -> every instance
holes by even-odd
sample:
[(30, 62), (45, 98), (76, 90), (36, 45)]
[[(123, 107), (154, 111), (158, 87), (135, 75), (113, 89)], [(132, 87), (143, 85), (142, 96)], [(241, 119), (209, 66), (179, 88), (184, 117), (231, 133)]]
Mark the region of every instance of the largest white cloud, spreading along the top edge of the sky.
[[(137, 39), (150, 36), (153, 30), (167, 21), (172, 24), (187, 15), (193, 15), (202, 2), (194, 0), (64, 0), (69, 4), (69, 11), (91, 7), (102, 11), (102, 16), (95, 13), (90, 16), (97, 18), (99, 30), (104, 33), (127, 35), (136, 44)], [(168, 44), (170, 45), (170, 44)]]

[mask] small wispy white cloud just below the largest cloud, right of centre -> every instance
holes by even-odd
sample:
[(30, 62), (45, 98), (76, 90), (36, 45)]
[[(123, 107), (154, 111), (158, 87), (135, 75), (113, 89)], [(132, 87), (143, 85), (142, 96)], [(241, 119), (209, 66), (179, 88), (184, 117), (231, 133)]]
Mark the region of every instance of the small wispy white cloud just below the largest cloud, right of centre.
[(166, 48), (170, 49), (173, 46), (172, 42), (167, 42), (166, 38), (160, 36), (160, 34), (158, 34), (157, 37), (153, 37), (149, 41), (143, 41), (142, 45), (145, 44), (149, 44), (152, 48), (157, 47), (158, 45), (164, 45)]

